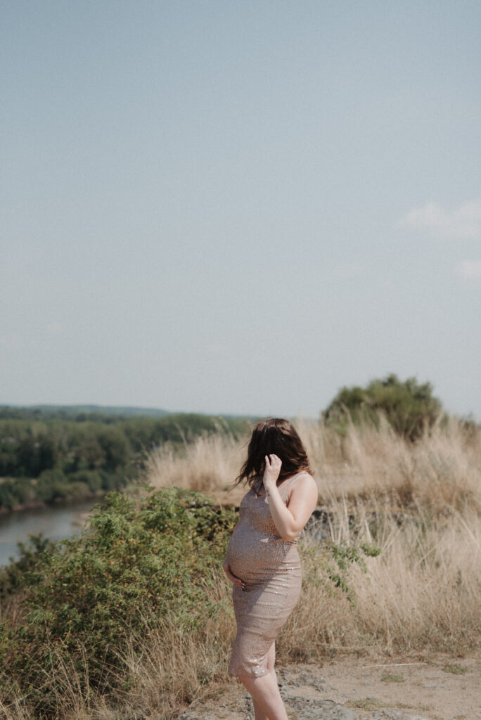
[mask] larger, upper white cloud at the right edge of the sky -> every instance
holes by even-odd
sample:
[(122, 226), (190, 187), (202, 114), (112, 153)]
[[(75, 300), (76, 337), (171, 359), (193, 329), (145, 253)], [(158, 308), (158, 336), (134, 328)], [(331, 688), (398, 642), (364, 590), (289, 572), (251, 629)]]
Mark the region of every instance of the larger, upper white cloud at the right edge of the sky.
[(423, 207), (413, 207), (397, 223), (397, 227), (426, 228), (439, 238), (480, 240), (481, 198), (464, 202), (451, 212), (444, 210), (437, 202), (427, 202)]

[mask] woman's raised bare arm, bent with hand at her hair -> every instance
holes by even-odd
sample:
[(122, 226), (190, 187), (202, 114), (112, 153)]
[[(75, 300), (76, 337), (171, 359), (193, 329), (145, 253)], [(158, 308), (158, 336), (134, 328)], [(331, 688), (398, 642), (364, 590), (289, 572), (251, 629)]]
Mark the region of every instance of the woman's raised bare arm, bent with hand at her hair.
[(264, 487), (269, 496), (271, 517), (283, 540), (295, 540), (318, 504), (318, 486), (311, 475), (302, 475), (292, 488), (289, 507), (287, 507), (276, 484), (279, 472), (274, 479), (274, 467), (279, 464), (280, 470), (281, 461), (277, 456), (269, 457), (272, 460), (267, 462), (266, 459), (266, 469), (269, 467), (270, 472), (268, 470), (264, 474)]

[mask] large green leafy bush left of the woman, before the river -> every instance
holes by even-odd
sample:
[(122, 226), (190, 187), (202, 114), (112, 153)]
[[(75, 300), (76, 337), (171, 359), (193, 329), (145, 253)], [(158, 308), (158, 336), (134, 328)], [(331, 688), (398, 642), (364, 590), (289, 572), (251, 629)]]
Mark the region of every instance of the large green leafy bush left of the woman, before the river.
[(222, 573), (235, 519), (192, 490), (159, 490), (140, 507), (111, 492), (90, 528), (50, 552), (42, 543), (35, 557), (27, 551), (10, 583), (24, 593), (22, 619), (0, 626), (4, 692), (27, 692), (32, 708), (48, 714), (59, 656), (80, 677), (88, 667), (90, 688), (114, 690), (127, 641), (141, 645), (165, 613), (195, 633), (217, 612), (204, 591)]

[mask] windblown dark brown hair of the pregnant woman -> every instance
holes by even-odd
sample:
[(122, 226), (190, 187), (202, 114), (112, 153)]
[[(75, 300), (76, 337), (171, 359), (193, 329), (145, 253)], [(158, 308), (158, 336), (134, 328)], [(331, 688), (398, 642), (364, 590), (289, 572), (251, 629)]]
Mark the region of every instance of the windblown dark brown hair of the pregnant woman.
[(269, 418), (261, 420), (253, 429), (247, 459), (234, 480), (234, 487), (243, 481), (252, 487), (258, 477), (264, 475), (266, 455), (271, 454), (282, 460), (278, 484), (301, 470), (313, 474), (305, 447), (292, 423), (282, 418)]

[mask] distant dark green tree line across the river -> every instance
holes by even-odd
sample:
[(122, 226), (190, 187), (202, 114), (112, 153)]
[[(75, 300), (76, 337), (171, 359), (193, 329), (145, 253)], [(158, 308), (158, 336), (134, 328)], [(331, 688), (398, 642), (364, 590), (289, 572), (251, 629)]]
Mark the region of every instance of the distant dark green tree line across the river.
[(161, 443), (183, 446), (202, 433), (246, 430), (247, 420), (181, 413), (138, 417), (83, 412), (65, 419), (0, 408), (0, 508), (119, 490), (138, 477), (145, 453)]

